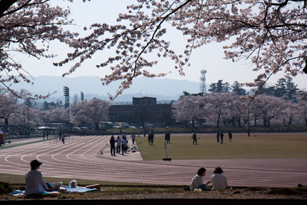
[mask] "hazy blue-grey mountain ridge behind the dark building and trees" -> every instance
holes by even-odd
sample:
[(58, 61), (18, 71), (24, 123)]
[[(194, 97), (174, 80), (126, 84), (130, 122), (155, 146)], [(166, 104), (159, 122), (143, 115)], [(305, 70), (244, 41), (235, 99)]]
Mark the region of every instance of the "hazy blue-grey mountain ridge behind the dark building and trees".
[[(57, 76), (34, 77), (34, 85), (21, 82), (14, 85), (14, 89), (26, 89), (34, 94), (48, 94), (56, 91), (46, 101), (64, 101), (63, 86), (69, 87), (70, 101), (76, 94), (80, 98), (80, 92), (84, 92), (84, 99), (90, 100), (94, 97), (108, 99), (108, 93), (115, 94), (120, 82), (114, 82), (108, 86), (103, 86), (100, 79), (91, 76), (81, 76), (75, 78), (63, 78)], [(207, 86), (208, 87), (208, 86)], [(130, 89), (118, 96), (115, 101), (131, 101), (132, 97), (152, 96), (157, 100), (178, 99), (183, 91), (198, 93), (199, 84), (194, 81), (176, 79), (149, 79), (142, 77), (134, 80)]]

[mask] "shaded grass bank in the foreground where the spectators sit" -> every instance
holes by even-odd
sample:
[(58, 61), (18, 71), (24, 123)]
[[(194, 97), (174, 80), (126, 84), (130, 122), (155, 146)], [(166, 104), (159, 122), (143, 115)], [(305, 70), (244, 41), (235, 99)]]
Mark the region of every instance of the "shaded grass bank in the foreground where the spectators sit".
[[(68, 184), (68, 179), (44, 178), (46, 181), (63, 181)], [(1, 181), (11, 181), (10, 184)], [(76, 179), (79, 186), (89, 184), (99, 184), (101, 191), (89, 191), (86, 193), (67, 194), (30, 194), (29, 196), (10, 196), (13, 190), (24, 190), (24, 176), (13, 174), (0, 174), (0, 201), (44, 199), (305, 199), (307, 197), (307, 187), (297, 188), (269, 188), (269, 187), (236, 187), (225, 191), (183, 191), (181, 186), (166, 186), (156, 184), (134, 184), (111, 181), (94, 181)]]

